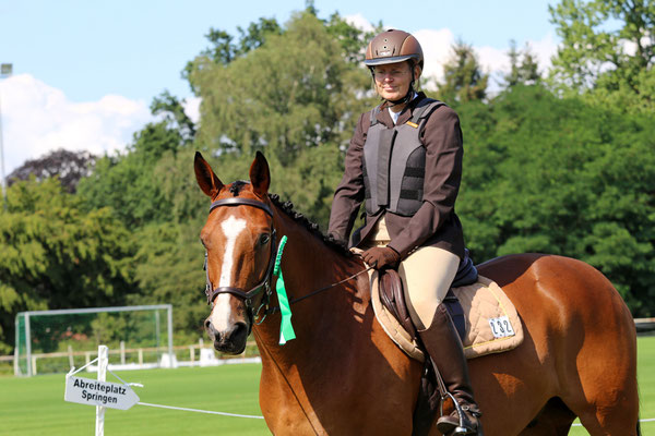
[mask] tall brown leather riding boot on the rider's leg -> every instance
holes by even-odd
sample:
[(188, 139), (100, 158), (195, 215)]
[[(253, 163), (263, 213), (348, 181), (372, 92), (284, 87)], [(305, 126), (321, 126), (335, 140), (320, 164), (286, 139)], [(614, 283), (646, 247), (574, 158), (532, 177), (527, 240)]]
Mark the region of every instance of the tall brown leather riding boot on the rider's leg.
[[(439, 417), (437, 428), (449, 436), (451, 434), (483, 436), (483, 424), (479, 421), (481, 413), (473, 399), (468, 364), (464, 356), (462, 341), (443, 304), (437, 307), (430, 327), (418, 330), (418, 336), (430, 354), (432, 364), (439, 370), (445, 388), (455, 397), (463, 411), (463, 428), (460, 426), (460, 415), (456, 410), (450, 415)], [(453, 433), (455, 429), (461, 432)]]

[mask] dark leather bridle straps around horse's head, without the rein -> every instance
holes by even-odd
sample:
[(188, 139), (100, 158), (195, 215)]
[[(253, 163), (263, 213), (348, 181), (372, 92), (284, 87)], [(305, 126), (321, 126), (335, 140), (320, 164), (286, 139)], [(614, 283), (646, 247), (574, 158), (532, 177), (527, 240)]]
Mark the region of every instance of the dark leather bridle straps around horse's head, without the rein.
[[(215, 208), (222, 207), (222, 206), (257, 207), (259, 209), (262, 209), (271, 218), (273, 218), (273, 211), (271, 210), (269, 205), (263, 202), (257, 201), (257, 199), (240, 198), (240, 197), (218, 199), (216, 202), (213, 202), (212, 205), (210, 206), (210, 214)], [(251, 317), (251, 319), (254, 316), (257, 316), (259, 314), (259, 312), (261, 311), (261, 308), (269, 304), (269, 298), (271, 295), (271, 277), (273, 276), (273, 266), (275, 264), (276, 249), (277, 249), (277, 238), (276, 238), (275, 229), (273, 229), (273, 232), (271, 234), (271, 255), (269, 257), (269, 266), (266, 267), (266, 272), (264, 274), (264, 277), (262, 278), (262, 280), (258, 284), (255, 284), (252, 289), (250, 289), (249, 291), (245, 291), (240, 288), (235, 288), (235, 287), (213, 288), (212, 282), (210, 281), (210, 272), (207, 270), (207, 253), (205, 252), (204, 270), (205, 270), (205, 276), (206, 276), (205, 294), (207, 295), (207, 304), (212, 304), (214, 299), (218, 294), (229, 293), (229, 294), (233, 294), (233, 295), (238, 296), (243, 300), (243, 302), (246, 303), (246, 308), (248, 311), (248, 315), (249, 315), (249, 317)], [(265, 289), (266, 293), (264, 294), (264, 298), (262, 299), (262, 304), (259, 306), (257, 312), (253, 314), (252, 298), (255, 296), (257, 294), (259, 294), (262, 291), (262, 288)]]

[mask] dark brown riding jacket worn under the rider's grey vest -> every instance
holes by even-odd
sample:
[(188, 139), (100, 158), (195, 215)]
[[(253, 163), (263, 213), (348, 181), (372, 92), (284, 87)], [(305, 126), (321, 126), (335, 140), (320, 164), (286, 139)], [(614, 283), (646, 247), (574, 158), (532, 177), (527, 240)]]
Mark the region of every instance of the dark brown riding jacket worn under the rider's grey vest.
[[(412, 119), (414, 108), (425, 97), (424, 93), (419, 93), (409, 102), (398, 118), (398, 125)], [(346, 153), (344, 177), (332, 202), (327, 232), (343, 242), (348, 240), (359, 206), (365, 199), (364, 144), (370, 126), (370, 111), (361, 114), (355, 128)], [(384, 105), (377, 119), (388, 129), (394, 128)], [(427, 152), (422, 205), (412, 217), (384, 210), (376, 215), (367, 214), (365, 226), (353, 234), (352, 246), (364, 241), (384, 215), (391, 237), (388, 246), (398, 252), (401, 258), (406, 258), (420, 246), (437, 246), (464, 257), (462, 225), (454, 209), (462, 180), (464, 153), (457, 113), (448, 106), (437, 108), (424, 124), (420, 137)]]

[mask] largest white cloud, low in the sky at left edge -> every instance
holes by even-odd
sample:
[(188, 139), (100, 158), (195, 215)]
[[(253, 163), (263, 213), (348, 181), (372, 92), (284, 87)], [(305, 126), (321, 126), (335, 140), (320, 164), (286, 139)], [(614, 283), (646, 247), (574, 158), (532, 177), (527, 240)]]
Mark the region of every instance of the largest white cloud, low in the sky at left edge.
[(97, 155), (122, 150), (153, 119), (144, 101), (107, 95), (74, 102), (29, 74), (0, 81), (0, 98), (7, 174), (58, 148)]

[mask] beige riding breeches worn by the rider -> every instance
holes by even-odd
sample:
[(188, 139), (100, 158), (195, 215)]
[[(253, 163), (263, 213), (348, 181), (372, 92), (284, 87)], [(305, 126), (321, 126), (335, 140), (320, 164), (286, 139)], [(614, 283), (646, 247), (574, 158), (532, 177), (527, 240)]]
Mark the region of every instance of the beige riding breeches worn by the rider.
[[(390, 240), (382, 217), (361, 249), (386, 245)], [(458, 266), (456, 254), (436, 246), (421, 246), (401, 262), (398, 275), (403, 280), (409, 316), (418, 329), (426, 329), (432, 324), (437, 306), (450, 289)]]

